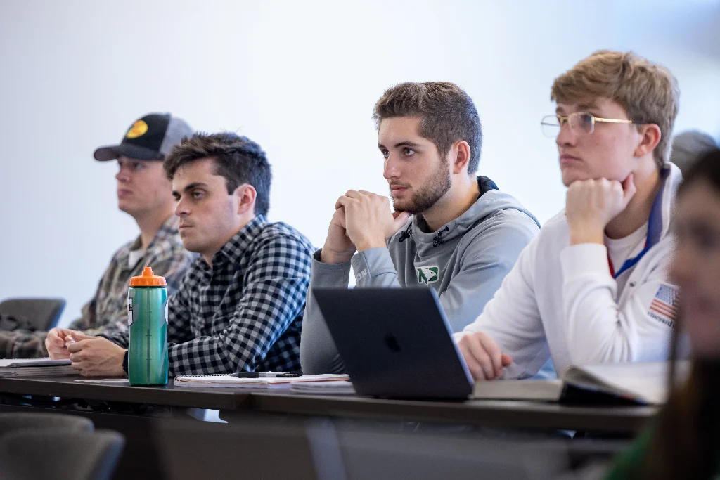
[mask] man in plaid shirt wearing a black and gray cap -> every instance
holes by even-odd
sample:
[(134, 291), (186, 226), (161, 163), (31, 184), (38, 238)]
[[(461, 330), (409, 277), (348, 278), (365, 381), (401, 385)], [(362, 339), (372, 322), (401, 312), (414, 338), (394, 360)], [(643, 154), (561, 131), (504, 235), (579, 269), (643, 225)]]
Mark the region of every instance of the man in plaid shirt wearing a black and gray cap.
[[(82, 316), (71, 323), (71, 329), (87, 335), (127, 330), (127, 285), (145, 266), (166, 278), (168, 294), (178, 288), (194, 255), (180, 240), (175, 199), (163, 160), (174, 145), (192, 134), (183, 119), (153, 113), (132, 123), (118, 145), (95, 150), (96, 160), (117, 160), (117, 206), (135, 219), (140, 235), (114, 253), (95, 295), (83, 307)], [(47, 335), (27, 329), (19, 319), (17, 329), (0, 331), (0, 356), (46, 357)]]

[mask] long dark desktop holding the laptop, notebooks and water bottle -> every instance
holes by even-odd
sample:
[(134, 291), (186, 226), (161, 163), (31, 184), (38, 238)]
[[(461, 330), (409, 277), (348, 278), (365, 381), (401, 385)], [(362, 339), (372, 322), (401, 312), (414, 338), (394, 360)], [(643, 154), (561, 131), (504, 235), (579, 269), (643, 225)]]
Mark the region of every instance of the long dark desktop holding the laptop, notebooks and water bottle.
[(79, 377), (0, 379), (0, 394), (40, 395), (160, 407), (192, 407), (232, 412), (265, 412), (315, 417), (486, 425), (536, 430), (582, 430), (632, 434), (657, 412), (656, 407), (575, 407), (526, 402), (468, 400), (428, 402), (354, 396), (310, 396), (283, 391), (86, 384)]

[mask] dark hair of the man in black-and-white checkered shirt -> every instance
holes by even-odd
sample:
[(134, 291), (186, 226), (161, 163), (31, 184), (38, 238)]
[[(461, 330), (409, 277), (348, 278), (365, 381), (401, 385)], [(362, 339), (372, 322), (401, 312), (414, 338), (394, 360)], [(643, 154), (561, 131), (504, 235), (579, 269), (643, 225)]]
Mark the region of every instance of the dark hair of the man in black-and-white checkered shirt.
[(242, 184), (252, 185), (256, 191), (255, 214), (267, 214), (270, 209), (272, 172), (260, 145), (232, 132), (212, 135), (198, 132), (184, 138), (170, 150), (163, 168), (172, 180), (181, 166), (201, 158), (215, 160), (215, 173), (225, 177), (228, 194), (232, 194)]

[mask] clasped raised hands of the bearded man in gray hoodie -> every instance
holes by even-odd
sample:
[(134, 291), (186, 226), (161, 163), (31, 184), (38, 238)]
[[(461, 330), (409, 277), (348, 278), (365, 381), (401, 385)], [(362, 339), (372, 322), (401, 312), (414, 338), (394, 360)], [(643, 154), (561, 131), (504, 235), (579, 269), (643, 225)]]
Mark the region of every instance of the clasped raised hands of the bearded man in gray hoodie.
[(385, 247), (410, 218), (408, 212), (391, 212), (386, 196), (348, 190), (335, 204), (320, 260), (346, 263), (356, 251)]

